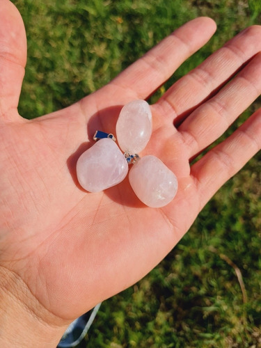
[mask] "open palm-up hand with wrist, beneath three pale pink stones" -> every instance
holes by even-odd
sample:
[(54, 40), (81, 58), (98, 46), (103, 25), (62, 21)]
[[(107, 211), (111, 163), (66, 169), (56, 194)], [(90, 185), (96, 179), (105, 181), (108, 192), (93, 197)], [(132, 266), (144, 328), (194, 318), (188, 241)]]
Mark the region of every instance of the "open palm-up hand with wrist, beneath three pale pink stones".
[(155, 267), (260, 150), (258, 110), (190, 166), (260, 95), (261, 27), (252, 26), (151, 106), (152, 137), (141, 155), (159, 157), (177, 175), (172, 203), (145, 207), (127, 179), (101, 193), (86, 193), (77, 183), (76, 161), (93, 145), (95, 130), (115, 134), (122, 105), (148, 97), (215, 29), (212, 19), (194, 19), (104, 88), (25, 120), (17, 112), (24, 25), (15, 6), (0, 0), (1, 347), (56, 347), (72, 319)]

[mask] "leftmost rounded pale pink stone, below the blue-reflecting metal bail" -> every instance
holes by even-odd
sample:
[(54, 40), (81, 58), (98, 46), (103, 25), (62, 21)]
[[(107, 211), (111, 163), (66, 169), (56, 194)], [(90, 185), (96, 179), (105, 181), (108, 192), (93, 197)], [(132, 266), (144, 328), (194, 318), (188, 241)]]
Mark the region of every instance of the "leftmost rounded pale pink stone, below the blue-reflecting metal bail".
[(128, 164), (113, 140), (101, 139), (79, 157), (76, 171), (81, 187), (100, 192), (122, 182)]

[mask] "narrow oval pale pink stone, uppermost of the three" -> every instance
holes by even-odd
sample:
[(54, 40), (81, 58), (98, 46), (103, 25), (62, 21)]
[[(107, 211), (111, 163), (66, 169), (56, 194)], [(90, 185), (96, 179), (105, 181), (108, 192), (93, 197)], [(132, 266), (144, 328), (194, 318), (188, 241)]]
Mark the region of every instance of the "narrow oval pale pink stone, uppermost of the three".
[(123, 152), (139, 154), (150, 140), (152, 115), (145, 100), (134, 100), (122, 107), (116, 124), (116, 137)]

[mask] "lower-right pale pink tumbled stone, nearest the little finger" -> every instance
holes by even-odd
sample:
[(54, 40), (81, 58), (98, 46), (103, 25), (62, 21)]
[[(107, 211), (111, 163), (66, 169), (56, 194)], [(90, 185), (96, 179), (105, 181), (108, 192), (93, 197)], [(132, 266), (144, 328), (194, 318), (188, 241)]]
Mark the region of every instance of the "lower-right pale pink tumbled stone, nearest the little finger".
[(129, 183), (141, 202), (153, 208), (164, 207), (177, 193), (177, 177), (152, 155), (142, 157), (133, 165)]

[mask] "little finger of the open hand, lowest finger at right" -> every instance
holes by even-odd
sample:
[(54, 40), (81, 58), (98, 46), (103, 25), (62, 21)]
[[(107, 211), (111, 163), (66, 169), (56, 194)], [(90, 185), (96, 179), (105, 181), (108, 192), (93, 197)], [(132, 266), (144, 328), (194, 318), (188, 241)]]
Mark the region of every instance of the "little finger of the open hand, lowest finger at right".
[(200, 209), (260, 148), (261, 109), (191, 167), (199, 192)]

